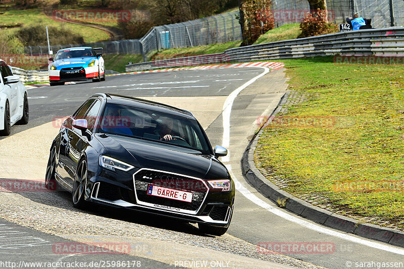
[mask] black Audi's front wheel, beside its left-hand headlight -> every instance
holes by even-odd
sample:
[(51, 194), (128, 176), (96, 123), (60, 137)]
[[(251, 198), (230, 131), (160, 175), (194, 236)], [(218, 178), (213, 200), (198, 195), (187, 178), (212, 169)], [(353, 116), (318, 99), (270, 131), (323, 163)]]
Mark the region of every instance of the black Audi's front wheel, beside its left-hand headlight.
[(73, 182), (72, 203), (75, 208), (85, 209), (86, 201), (84, 196), (87, 189), (87, 162), (82, 159), (77, 166), (76, 176)]

